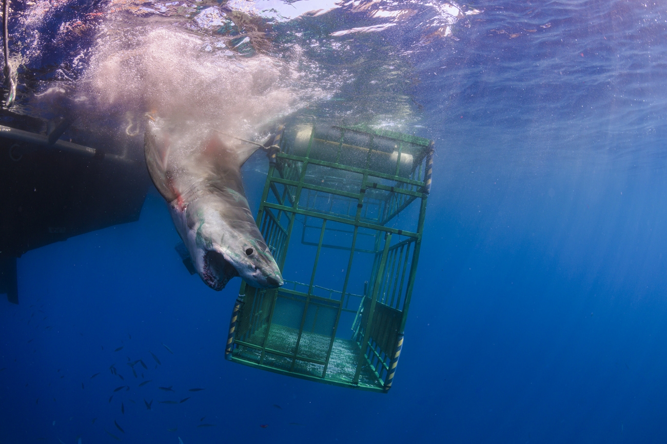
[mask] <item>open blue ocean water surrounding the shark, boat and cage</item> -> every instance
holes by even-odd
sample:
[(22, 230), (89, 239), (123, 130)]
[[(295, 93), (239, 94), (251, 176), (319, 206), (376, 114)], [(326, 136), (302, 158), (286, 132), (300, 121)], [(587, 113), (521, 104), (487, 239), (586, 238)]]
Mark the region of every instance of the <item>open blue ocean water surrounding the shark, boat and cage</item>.
[[(282, 22), (275, 51), (296, 41), (325, 67), (315, 81), (333, 92), (307, 112), (436, 141), (390, 393), (225, 361), (239, 281), (215, 293), (188, 275), (153, 189), (137, 223), (19, 259), (21, 303), (0, 304), (0, 443), (114, 442), (105, 430), (128, 443), (185, 444), (667, 439), (665, 4), (480, 1), (460, 7), (480, 13), (459, 17), (452, 35), (434, 36), (432, 6), (380, 2), (370, 8), (414, 13), (337, 37), (351, 47), (342, 53), (310, 46), (389, 23), (359, 5)], [(63, 3), (33, 28), (14, 26), (47, 41), (103, 7)], [(39, 109), (31, 91), (76, 78), (71, 60), (94, 37), (86, 32), (58, 41), (59, 55), (46, 45), (27, 58), (23, 73), (35, 77), (19, 88), (22, 106)], [(398, 80), (382, 71), (388, 63)], [(263, 169), (255, 161), (244, 171), (253, 210)], [(153, 382), (137, 387), (127, 357), (143, 359), (148, 368), (135, 368)], [(131, 389), (114, 393), (120, 385)], [(190, 399), (158, 404), (172, 397)]]

